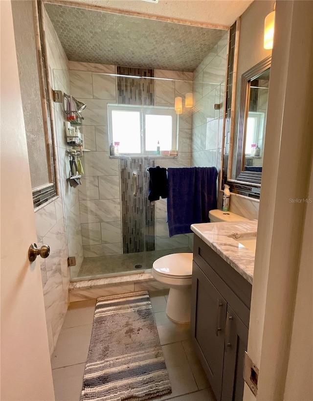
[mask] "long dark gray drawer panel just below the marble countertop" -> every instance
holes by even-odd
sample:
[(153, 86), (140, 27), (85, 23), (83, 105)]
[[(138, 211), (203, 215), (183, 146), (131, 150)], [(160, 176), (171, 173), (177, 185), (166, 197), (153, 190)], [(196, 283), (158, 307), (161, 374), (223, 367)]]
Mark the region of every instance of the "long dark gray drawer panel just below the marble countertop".
[(251, 284), (196, 235), (194, 261), (248, 327)]

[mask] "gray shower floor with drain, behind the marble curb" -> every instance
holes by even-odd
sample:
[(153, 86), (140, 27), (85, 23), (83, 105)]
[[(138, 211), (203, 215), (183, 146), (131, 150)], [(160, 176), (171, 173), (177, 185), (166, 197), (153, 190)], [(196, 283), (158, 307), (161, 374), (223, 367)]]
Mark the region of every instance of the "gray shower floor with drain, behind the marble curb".
[[(191, 252), (191, 250), (188, 247), (183, 247), (84, 258), (82, 266), (76, 274), (71, 270), (71, 281), (147, 273), (151, 271), (152, 264), (156, 259), (171, 253), (182, 252)], [(138, 265), (142, 267), (138, 268)]]

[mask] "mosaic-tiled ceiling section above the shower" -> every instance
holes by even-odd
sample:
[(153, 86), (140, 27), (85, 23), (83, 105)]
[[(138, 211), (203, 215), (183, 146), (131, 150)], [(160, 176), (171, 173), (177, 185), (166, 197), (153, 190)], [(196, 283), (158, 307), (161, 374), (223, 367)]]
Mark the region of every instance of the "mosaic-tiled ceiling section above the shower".
[(45, 8), (71, 61), (194, 71), (226, 34), (59, 4)]

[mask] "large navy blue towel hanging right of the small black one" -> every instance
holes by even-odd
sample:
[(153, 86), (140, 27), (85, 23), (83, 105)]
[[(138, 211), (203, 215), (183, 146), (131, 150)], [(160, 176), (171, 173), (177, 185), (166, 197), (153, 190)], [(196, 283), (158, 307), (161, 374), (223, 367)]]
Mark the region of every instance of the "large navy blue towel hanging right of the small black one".
[(215, 167), (168, 168), (167, 218), (169, 235), (192, 232), (191, 224), (208, 223), (217, 207)]

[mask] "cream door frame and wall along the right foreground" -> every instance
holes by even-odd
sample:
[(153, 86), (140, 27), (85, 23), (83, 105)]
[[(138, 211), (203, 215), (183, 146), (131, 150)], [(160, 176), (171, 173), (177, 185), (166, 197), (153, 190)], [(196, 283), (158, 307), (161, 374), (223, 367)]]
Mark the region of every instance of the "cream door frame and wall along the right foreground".
[[(306, 233), (313, 232), (313, 206), (290, 201), (306, 199), (309, 194), (313, 147), (312, 20), (311, 1), (276, 3), (248, 338), (248, 354), (260, 369), (259, 400), (291, 400), (297, 390), (296, 399), (305, 400), (302, 395), (306, 397), (312, 391), (312, 359), (311, 363), (307, 360), (312, 331), (304, 330), (300, 337), (303, 327), (297, 324), (301, 320), (303, 326), (302, 320), (309, 319), (305, 324), (312, 328), (312, 303), (308, 304), (312, 280), (308, 286), (310, 277), (304, 279), (303, 274), (308, 268), (312, 271), (312, 239)], [(303, 300), (307, 305), (300, 311)], [(308, 378), (302, 381), (301, 389), (297, 377)], [(246, 393), (244, 400), (250, 398)]]

